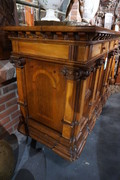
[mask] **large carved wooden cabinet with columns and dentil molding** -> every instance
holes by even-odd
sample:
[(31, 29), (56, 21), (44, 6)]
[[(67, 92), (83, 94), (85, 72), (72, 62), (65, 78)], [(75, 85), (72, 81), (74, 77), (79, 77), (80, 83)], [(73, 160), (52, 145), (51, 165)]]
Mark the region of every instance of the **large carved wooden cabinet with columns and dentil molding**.
[(114, 81), (120, 33), (100, 27), (5, 27), (12, 41), (19, 131), (79, 157)]

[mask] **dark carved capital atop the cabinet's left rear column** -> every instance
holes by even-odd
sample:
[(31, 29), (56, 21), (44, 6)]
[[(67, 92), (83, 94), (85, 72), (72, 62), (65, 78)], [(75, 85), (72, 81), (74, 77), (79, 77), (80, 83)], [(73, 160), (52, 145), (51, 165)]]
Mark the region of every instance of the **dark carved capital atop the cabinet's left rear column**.
[(18, 56), (11, 56), (11, 57), (10, 57), (10, 62), (11, 62), (12, 64), (14, 64), (14, 66), (15, 66), (16, 68), (23, 68), (24, 65), (26, 64), (25, 59), (22, 58), (22, 57), (18, 57)]

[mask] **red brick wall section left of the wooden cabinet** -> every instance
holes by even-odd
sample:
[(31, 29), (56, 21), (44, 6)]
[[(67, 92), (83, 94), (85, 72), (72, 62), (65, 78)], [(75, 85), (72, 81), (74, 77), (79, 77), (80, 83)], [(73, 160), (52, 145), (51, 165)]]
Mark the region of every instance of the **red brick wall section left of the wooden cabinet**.
[(17, 129), (19, 114), (16, 82), (0, 87), (0, 137)]

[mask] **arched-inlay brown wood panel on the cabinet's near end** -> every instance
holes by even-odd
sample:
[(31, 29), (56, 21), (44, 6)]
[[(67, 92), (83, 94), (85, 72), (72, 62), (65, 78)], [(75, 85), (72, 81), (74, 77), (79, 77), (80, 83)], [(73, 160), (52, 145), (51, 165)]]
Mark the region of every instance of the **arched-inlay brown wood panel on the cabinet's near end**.
[(27, 60), (26, 82), (29, 117), (62, 132), (66, 81), (62, 65)]

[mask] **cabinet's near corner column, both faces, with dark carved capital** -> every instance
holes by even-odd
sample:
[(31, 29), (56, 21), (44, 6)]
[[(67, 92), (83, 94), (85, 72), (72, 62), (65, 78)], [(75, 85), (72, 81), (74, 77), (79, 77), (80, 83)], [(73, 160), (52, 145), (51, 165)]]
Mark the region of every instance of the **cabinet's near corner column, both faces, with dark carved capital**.
[(86, 89), (86, 78), (90, 75), (92, 69), (83, 71), (78, 68), (66, 67), (62, 70), (67, 79), (66, 104), (63, 120), (62, 136), (67, 139), (74, 139), (79, 130), (75, 131), (75, 126), (79, 125), (83, 118), (83, 108)]

